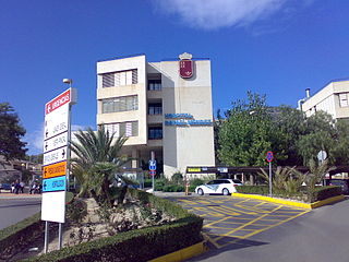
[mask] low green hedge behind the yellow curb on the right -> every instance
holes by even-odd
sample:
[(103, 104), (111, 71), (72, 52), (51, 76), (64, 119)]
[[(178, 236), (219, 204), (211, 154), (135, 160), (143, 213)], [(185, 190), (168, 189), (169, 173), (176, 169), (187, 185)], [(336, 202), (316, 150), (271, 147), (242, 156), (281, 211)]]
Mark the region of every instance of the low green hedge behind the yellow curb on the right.
[[(268, 186), (239, 186), (236, 187), (238, 193), (246, 193), (246, 194), (269, 194)], [(302, 187), (298, 194), (293, 194), (292, 196), (308, 196), (308, 200), (313, 203), (316, 201), (325, 200), (332, 196), (340, 195), (341, 188), (337, 186), (326, 186), (326, 187), (317, 187), (315, 191), (310, 195), (310, 192), (306, 191), (306, 187)], [(290, 196), (290, 193), (286, 190), (275, 190), (273, 189), (273, 195), (276, 196)]]

